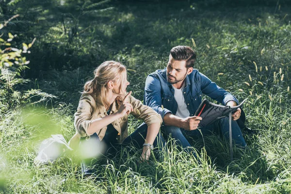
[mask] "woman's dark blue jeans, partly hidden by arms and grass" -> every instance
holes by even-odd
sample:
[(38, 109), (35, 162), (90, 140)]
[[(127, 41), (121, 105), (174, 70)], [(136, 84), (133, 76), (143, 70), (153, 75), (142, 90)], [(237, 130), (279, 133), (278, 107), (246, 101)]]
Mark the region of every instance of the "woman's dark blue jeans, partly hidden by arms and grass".
[[(114, 129), (115, 130), (115, 129)], [(114, 133), (115, 131), (113, 131)], [(105, 145), (105, 150), (102, 153), (105, 157), (111, 158), (114, 157), (118, 151), (120, 151), (123, 147), (133, 146), (136, 149), (142, 149), (143, 144), (145, 143), (147, 133), (147, 125), (146, 123), (141, 124), (134, 132), (132, 132), (123, 142), (122, 144), (118, 144), (116, 140), (116, 135), (112, 135), (112, 133), (105, 133), (103, 140), (101, 141)], [(85, 138), (81, 138), (80, 144), (83, 141), (99, 141), (99, 137), (97, 133), (94, 133), (90, 136), (89, 140), (85, 140)], [(100, 141), (99, 141), (100, 142)], [(162, 160), (162, 150), (166, 149), (165, 140), (163, 139), (161, 132), (158, 133), (154, 143), (154, 155), (156, 159)], [(94, 168), (92, 166), (97, 164), (96, 158), (88, 158), (86, 160), (82, 160), (81, 167), (82, 173), (84, 175), (92, 175), (94, 173)]]

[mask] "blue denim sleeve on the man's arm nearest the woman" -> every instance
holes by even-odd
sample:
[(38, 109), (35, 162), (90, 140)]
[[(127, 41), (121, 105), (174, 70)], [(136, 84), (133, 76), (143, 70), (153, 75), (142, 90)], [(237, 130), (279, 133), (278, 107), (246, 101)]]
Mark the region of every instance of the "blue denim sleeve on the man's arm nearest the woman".
[(172, 113), (162, 107), (161, 82), (151, 75), (146, 78), (144, 103), (159, 113), (162, 120), (166, 113)]

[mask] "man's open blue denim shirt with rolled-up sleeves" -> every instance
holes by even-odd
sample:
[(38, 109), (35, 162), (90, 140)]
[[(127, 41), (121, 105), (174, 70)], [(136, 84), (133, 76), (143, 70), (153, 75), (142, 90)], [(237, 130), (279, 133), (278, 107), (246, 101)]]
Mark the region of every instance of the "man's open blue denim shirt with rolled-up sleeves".
[[(151, 73), (146, 78), (144, 103), (161, 114), (162, 119), (166, 113), (176, 114), (178, 104), (174, 98), (172, 84), (167, 81), (166, 68)], [(239, 104), (238, 99), (216, 85), (197, 69), (186, 76), (183, 96), (190, 115), (194, 116), (202, 101), (202, 94), (226, 105), (230, 100)]]

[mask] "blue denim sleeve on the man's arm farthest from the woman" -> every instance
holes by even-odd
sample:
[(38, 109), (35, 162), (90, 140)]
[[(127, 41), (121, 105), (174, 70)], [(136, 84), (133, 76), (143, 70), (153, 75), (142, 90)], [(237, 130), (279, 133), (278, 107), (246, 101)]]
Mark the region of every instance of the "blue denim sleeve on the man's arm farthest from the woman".
[[(200, 73), (200, 72), (199, 72)], [(228, 101), (235, 101), (239, 104), (239, 101), (236, 97), (232, 96), (229, 92), (226, 92), (225, 89), (216, 85), (215, 82), (211, 81), (204, 74), (200, 73), (200, 81), (201, 81), (201, 91), (203, 94), (211, 97), (217, 102), (226, 105)]]

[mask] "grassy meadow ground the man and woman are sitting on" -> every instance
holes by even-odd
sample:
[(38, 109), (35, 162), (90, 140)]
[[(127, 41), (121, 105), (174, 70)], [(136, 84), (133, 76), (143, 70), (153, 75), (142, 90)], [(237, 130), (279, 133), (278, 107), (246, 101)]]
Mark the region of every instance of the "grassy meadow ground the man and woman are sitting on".
[[(82, 20), (80, 28), (86, 30), (75, 37), (74, 53), (66, 58), (72, 57), (66, 61), (68, 66), (42, 71), (29, 86), (58, 96), (52, 102), (54, 108), (32, 113), (14, 110), (0, 120), (2, 192), (290, 193), (290, 7), (276, 3), (206, 7), (187, 2), (116, 3), (114, 7), (110, 16)], [(53, 24), (62, 29), (62, 22)], [(51, 49), (53, 44), (61, 58), (62, 33), (43, 34), (35, 47), (47, 44)], [(173, 146), (164, 153), (164, 161), (152, 157), (142, 164), (139, 151), (126, 157), (128, 150), (124, 150), (113, 160), (100, 161), (94, 178), (82, 177), (77, 156), (45, 166), (33, 164), (39, 141), (49, 134), (63, 134), (66, 140), (73, 135), (78, 92), (100, 62), (123, 62), (129, 69), (129, 89), (143, 99), (146, 76), (164, 68), (169, 50), (177, 45), (193, 47), (200, 72), (239, 100), (248, 98), (247, 126), (258, 134), (245, 136), (246, 153), (235, 149), (231, 162), (227, 142), (213, 135), (193, 142), (201, 157), (199, 164)], [(51, 53), (38, 61), (45, 51), (33, 51), (32, 67), (52, 64)], [(138, 124), (131, 120), (130, 131)]]

